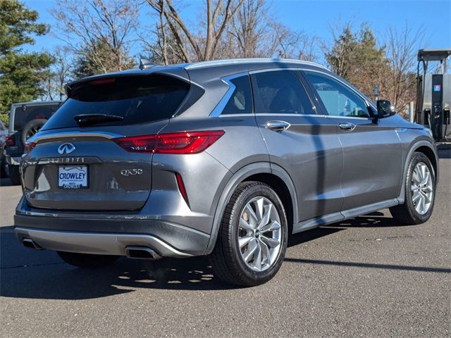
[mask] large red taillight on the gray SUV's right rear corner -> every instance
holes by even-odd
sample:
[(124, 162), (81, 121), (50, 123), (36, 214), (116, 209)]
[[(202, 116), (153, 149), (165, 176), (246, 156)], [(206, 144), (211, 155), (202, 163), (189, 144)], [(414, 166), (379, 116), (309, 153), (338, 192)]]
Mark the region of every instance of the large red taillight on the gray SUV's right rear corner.
[(223, 130), (171, 132), (168, 134), (119, 137), (113, 139), (126, 151), (156, 154), (197, 154), (214, 144)]

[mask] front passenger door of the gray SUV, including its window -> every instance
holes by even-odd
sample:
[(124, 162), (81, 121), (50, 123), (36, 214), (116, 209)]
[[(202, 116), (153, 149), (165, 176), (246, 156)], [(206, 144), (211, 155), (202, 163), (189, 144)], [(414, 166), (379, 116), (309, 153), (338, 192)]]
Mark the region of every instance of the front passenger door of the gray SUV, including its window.
[(402, 148), (395, 126), (373, 123), (369, 104), (351, 87), (334, 77), (305, 70), (319, 108), (337, 126), (343, 146), (342, 210), (388, 199), (400, 191)]

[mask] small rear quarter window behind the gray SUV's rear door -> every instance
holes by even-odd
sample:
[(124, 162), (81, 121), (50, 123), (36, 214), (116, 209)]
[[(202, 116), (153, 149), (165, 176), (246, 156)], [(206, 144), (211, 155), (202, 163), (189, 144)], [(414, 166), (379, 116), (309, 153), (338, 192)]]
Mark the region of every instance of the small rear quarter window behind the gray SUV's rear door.
[(235, 86), (235, 90), (221, 114), (252, 113), (252, 92), (249, 76), (235, 77), (230, 82)]

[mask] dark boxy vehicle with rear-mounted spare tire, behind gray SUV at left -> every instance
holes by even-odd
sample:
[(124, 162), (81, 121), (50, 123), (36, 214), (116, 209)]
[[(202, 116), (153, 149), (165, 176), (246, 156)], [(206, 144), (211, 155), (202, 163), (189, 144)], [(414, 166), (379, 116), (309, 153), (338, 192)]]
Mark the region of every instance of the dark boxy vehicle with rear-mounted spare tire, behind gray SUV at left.
[(8, 175), (13, 184), (20, 184), (19, 165), (25, 142), (42, 128), (61, 104), (62, 101), (43, 101), (11, 105), (5, 155)]

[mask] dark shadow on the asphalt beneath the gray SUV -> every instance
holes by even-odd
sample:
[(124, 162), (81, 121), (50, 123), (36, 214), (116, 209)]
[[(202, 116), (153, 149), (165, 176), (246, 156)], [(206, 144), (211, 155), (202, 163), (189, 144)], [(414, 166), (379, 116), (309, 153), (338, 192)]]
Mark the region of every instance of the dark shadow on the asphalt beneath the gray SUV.
[[(383, 213), (295, 234), (295, 246), (345, 230), (347, 227), (399, 226)], [(289, 258), (287, 258), (290, 261)], [(309, 263), (309, 262), (305, 262)], [(137, 289), (217, 290), (236, 286), (214, 277), (206, 257), (141, 261), (120, 258), (97, 269), (80, 269), (54, 251), (34, 251), (18, 243), (13, 227), (0, 227), (0, 296), (30, 299), (94, 299)]]

